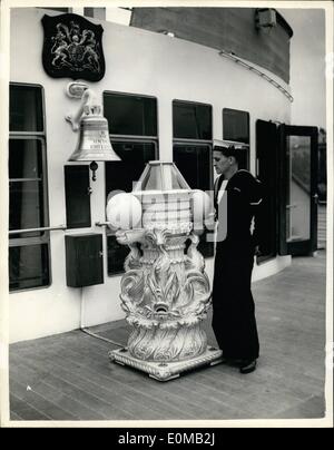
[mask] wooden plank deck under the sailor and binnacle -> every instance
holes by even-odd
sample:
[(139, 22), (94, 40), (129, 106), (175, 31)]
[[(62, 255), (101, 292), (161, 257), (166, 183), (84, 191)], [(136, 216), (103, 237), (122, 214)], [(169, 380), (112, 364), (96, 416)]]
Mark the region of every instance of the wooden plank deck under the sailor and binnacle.
[[(325, 252), (254, 283), (258, 369), (219, 364), (169, 382), (110, 363), (82, 331), (10, 345), (11, 420), (302, 419), (324, 415)], [(210, 343), (214, 336), (206, 324)], [(126, 344), (124, 321), (90, 329)]]

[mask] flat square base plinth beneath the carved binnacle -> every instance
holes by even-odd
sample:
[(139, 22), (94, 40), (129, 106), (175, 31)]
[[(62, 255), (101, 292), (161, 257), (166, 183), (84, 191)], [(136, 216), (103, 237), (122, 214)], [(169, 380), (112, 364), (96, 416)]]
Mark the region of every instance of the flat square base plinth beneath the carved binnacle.
[(132, 356), (127, 348), (119, 350), (111, 350), (109, 358), (111, 361), (121, 365), (128, 365), (148, 373), (150, 378), (158, 381), (169, 381), (178, 378), (183, 372), (187, 372), (204, 365), (216, 365), (222, 362), (222, 350), (214, 346), (207, 346), (206, 351), (199, 356), (191, 358), (185, 361), (175, 362), (155, 362), (143, 361)]

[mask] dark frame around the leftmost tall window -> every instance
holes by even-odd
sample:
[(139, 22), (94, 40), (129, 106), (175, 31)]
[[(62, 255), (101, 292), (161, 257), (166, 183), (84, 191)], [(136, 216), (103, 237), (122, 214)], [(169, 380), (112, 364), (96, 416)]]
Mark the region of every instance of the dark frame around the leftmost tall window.
[[(43, 207), (43, 224), (42, 227), (48, 227), (49, 226), (49, 219), (50, 219), (50, 214), (49, 214), (49, 188), (48, 188), (48, 162), (47, 162), (47, 139), (46, 139), (46, 108), (45, 108), (45, 89), (41, 85), (38, 84), (27, 84), (27, 82), (9, 82), (9, 89), (11, 87), (19, 86), (19, 87), (32, 87), (32, 88), (39, 88), (40, 94), (41, 94), (41, 109), (42, 109), (42, 131), (12, 131), (9, 130), (9, 140), (8, 140), (8, 146), (9, 141), (12, 140), (38, 140), (41, 143), (41, 167), (42, 167), (42, 173), (41, 173), (41, 183), (42, 183), (42, 196), (43, 196), (43, 202), (42, 202), (42, 207)], [(17, 179), (17, 178), (13, 178)], [(20, 178), (22, 182), (24, 178)], [(10, 183), (11, 178), (9, 178)], [(36, 227), (37, 228), (37, 227)], [(22, 228), (24, 229), (24, 228)], [(29, 245), (48, 245), (48, 278), (49, 282), (48, 284), (41, 285), (41, 286), (33, 286), (33, 287), (22, 287), (22, 288), (14, 288), (10, 290), (9, 293), (18, 293), (18, 292), (24, 292), (24, 291), (32, 291), (32, 290), (40, 290), (40, 288), (48, 288), (52, 284), (52, 271), (51, 271), (51, 245), (50, 245), (50, 232), (49, 231), (41, 231), (40, 236), (31, 236), (31, 237), (17, 237), (20, 232), (13, 234), (16, 237), (11, 237), (9, 235), (8, 243), (9, 247), (21, 247), (21, 246), (29, 246)]]

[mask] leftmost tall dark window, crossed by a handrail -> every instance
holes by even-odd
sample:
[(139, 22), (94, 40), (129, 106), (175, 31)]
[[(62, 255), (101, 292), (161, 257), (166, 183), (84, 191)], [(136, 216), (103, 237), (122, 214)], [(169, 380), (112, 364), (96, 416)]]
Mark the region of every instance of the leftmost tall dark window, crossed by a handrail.
[[(50, 284), (42, 89), (10, 85), (9, 287)], [(27, 231), (29, 229), (29, 231)], [(14, 233), (13, 233), (14, 232)]]

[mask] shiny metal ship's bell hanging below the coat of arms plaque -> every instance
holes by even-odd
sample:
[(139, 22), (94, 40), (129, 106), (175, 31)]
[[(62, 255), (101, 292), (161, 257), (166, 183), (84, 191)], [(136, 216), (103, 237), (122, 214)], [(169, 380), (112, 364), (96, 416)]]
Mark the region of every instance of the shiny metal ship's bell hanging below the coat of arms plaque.
[(108, 121), (101, 114), (100, 105), (86, 105), (80, 120), (80, 133), (76, 150), (70, 162), (116, 162), (116, 155), (109, 139)]

